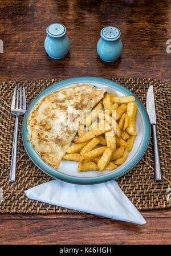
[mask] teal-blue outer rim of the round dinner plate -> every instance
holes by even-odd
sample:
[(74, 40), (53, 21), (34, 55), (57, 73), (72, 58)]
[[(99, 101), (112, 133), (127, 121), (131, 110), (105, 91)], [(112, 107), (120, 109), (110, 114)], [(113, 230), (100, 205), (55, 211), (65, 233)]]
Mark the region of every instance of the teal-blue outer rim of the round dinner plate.
[(123, 92), (123, 94), (125, 94), (127, 96), (129, 96), (129, 95), (135, 96), (127, 88), (121, 86), (118, 83), (115, 83), (111, 80), (104, 79), (104, 78), (96, 78), (96, 77), (91, 77), (91, 76), (88, 76), (88, 77), (80, 76), (78, 78), (70, 78), (70, 79), (62, 80), (61, 82), (52, 84), (52, 86), (47, 87), (44, 91), (40, 92), (40, 94), (38, 96), (36, 96), (35, 99), (31, 102), (31, 104), (27, 108), (25, 116), (23, 117), (22, 140), (23, 140), (23, 145), (26, 149), (26, 152), (27, 152), (28, 156), (30, 157), (30, 159), (32, 160), (32, 162), (34, 162), (34, 164), (36, 166), (38, 166), (38, 168), (40, 170), (42, 170), (44, 173), (48, 174), (49, 176), (51, 176), (53, 178), (57, 178), (62, 181), (74, 183), (74, 184), (97, 184), (97, 183), (106, 182), (109, 180), (119, 178), (119, 177), (123, 176), (124, 174), (128, 173), (141, 160), (141, 158), (144, 156), (146, 149), (148, 148), (149, 140), (150, 140), (150, 133), (151, 133), (150, 121), (149, 121), (148, 113), (146, 112), (144, 105), (141, 103), (141, 101), (136, 96), (135, 96), (135, 99), (136, 99), (135, 102), (138, 105), (138, 109), (141, 113), (141, 117), (142, 117), (142, 121), (143, 121), (143, 125), (144, 125), (144, 131), (145, 131), (144, 137), (142, 139), (142, 143), (139, 147), (139, 150), (137, 151), (137, 153), (133, 157), (133, 159), (130, 162), (128, 162), (128, 164), (126, 164), (125, 166), (120, 167), (119, 170), (115, 170), (115, 172), (108, 173), (104, 176), (99, 176), (99, 177), (74, 177), (74, 176), (69, 176), (68, 174), (58, 172), (58, 170), (52, 168), (50, 165), (46, 164), (40, 158), (40, 156), (35, 152), (34, 148), (32, 148), (32, 144), (28, 140), (27, 117), (28, 117), (28, 114), (30, 113), (32, 107), (34, 107), (35, 103), (41, 97), (50, 94), (51, 92), (56, 90), (58, 87), (67, 86), (68, 84), (72, 84), (72, 83), (74, 84), (74, 83), (84, 83), (84, 82), (86, 82), (86, 83), (93, 83), (93, 82), (94, 83), (103, 83), (106, 86), (112, 86), (116, 90), (120, 90), (121, 92)]

